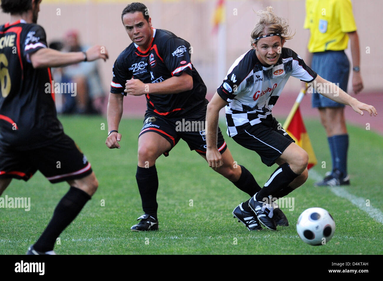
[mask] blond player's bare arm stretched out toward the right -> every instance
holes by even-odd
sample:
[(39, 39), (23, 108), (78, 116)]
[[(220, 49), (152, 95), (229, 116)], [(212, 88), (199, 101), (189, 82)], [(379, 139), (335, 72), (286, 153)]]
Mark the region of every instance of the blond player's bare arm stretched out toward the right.
[(333, 101), (339, 102), (341, 104), (351, 106), (352, 109), (354, 109), (354, 111), (358, 112), (360, 115), (363, 115), (363, 110), (367, 111), (370, 116), (376, 116), (378, 114), (375, 107), (358, 101), (355, 99), (355, 97), (350, 96), (345, 91), (340, 89), (336, 84), (323, 79), (319, 75), (313, 82), (308, 84), (311, 87), (314, 86), (316, 91), (322, 96), (328, 97), (329, 99), (332, 99)]

